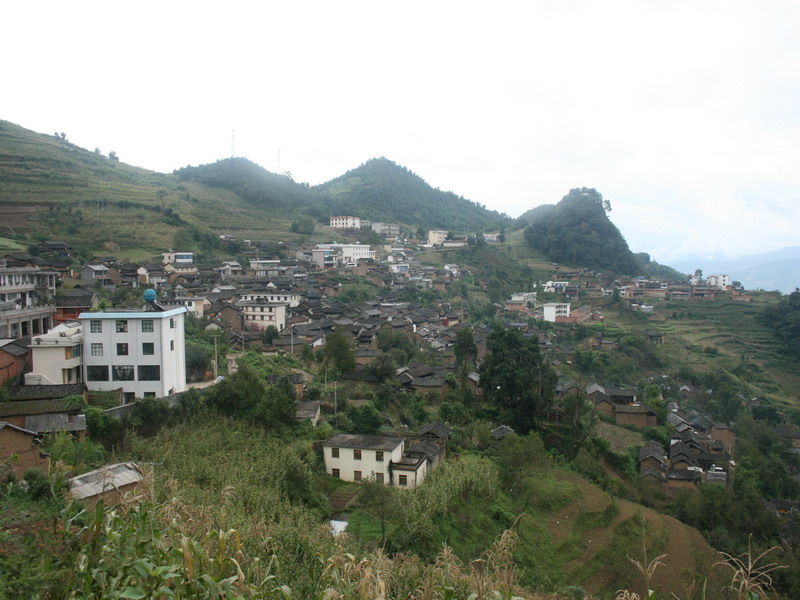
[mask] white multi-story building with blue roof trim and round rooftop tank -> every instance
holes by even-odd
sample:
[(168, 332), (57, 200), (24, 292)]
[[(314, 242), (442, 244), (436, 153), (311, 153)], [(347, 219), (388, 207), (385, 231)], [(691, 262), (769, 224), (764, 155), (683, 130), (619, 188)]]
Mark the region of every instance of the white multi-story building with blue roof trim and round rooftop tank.
[(185, 315), (185, 307), (81, 313), (86, 387), (122, 389), (126, 402), (184, 391)]

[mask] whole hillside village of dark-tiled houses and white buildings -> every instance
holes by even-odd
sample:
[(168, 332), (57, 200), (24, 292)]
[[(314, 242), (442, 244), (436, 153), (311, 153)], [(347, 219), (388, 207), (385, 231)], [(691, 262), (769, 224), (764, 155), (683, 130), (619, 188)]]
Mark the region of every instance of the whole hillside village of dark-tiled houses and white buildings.
[[(239, 256), (212, 262), (192, 251), (165, 250), (160, 260), (133, 263), (113, 256), (96, 256), (84, 263), (65, 243), (42, 242), (36, 255), (10, 253), (0, 258), (0, 384), (7, 401), (0, 403), (0, 463), (18, 477), (31, 467), (46, 467), (39, 450), (41, 436), (70, 432), (86, 435), (84, 401), (93, 394), (111, 394), (116, 406), (109, 415), (125, 419), (142, 398), (180, 402), (191, 388), (213, 385), (236, 372), (247, 352), (262, 355), (313, 356), (334, 331), (345, 332), (355, 365), (342, 380), (376, 386), (395, 382), (396, 393), (442, 398), (456, 381), (455, 344), (461, 329), (474, 335), (476, 355), (464, 373), (472, 393), (481, 394), (478, 366), (486, 353), (489, 327), (471, 322), (458, 282), (476, 281), (469, 269), (455, 263), (441, 266), (421, 262), (429, 253), (475, 244), (502, 244), (503, 234), (452, 235), (428, 231), (426, 239), (401, 235), (397, 224), (358, 217), (331, 217), (330, 234), (368, 230), (384, 238), (373, 247), (360, 242), (303, 244), (291, 247), (243, 240)], [(220, 236), (223, 242), (233, 236)], [(591, 336), (578, 345), (559, 339), (556, 325), (602, 322), (594, 299), (614, 297), (632, 311), (654, 310), (664, 299), (701, 300), (721, 295), (747, 301), (741, 285), (727, 275), (685, 282), (642, 277), (603, 282), (586, 270), (569, 271), (552, 264), (552, 277), (532, 282), (530, 290), (512, 293), (496, 309), (505, 326), (535, 338), (542, 352), (558, 365), (571, 364), (580, 347), (614, 352), (618, 340)], [(64, 285), (69, 282), (69, 285)], [(344, 283), (343, 283), (344, 282)], [(379, 290), (361, 299), (345, 293), (348, 282), (363, 282)], [(357, 284), (356, 284), (357, 285)], [(129, 290), (128, 306), (111, 306), (109, 292)], [(344, 291), (343, 291), (344, 290)], [(428, 301), (418, 302), (429, 292)], [(136, 299), (136, 301), (131, 301)], [(186, 320), (201, 322), (214, 335), (210, 368), (187, 368)], [(543, 326), (547, 324), (550, 326)], [(216, 352), (217, 338), (229, 351)], [(651, 344), (662, 335), (648, 333)], [(386, 375), (376, 369), (386, 355), (382, 340), (403, 339), (425, 348), (430, 360), (393, 364)], [(381, 349), (384, 346), (384, 350)], [(191, 372), (190, 372), (191, 371)], [(327, 374), (326, 374), (327, 375)], [(296, 418), (316, 426), (335, 407), (327, 389), (321, 399), (306, 395), (310, 375), (294, 373)], [(635, 389), (612, 387), (613, 382), (579, 385), (561, 381), (548, 419), (563, 419), (559, 407), (578, 394), (591, 407), (594, 419), (637, 430), (664, 425)], [(335, 394), (335, 392), (334, 392)], [(683, 386), (688, 397), (691, 388)], [(669, 446), (648, 441), (640, 448), (642, 478), (665, 493), (696, 489), (701, 483), (730, 485), (735, 472), (736, 442), (729, 424), (669, 404), (666, 422), (674, 433)], [(346, 481), (367, 479), (414, 488), (445, 459), (448, 427), (431, 421), (417, 433), (340, 433), (324, 443), (325, 471)], [(503, 424), (495, 439), (513, 432)], [(122, 490), (141, 479), (135, 465), (111, 465), (74, 478), (76, 494), (102, 495)], [(100, 477), (106, 484), (83, 485)], [(84, 491), (81, 491), (84, 490)], [(81, 496), (84, 497), (84, 496)]]

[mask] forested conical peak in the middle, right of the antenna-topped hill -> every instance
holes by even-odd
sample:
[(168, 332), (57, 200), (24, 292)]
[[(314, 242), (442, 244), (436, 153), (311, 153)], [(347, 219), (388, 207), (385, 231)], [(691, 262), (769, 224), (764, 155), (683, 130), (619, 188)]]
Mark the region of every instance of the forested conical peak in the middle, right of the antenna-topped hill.
[(453, 232), (498, 231), (513, 227), (508, 215), (487, 210), (452, 192), (432, 188), (386, 158), (375, 158), (316, 189), (328, 192), (341, 214), (399, 221)]

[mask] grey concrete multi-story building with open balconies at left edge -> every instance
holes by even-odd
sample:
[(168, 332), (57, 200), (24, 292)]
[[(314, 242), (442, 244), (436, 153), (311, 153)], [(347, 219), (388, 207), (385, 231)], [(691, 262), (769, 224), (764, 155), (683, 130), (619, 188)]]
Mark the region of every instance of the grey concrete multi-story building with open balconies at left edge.
[(38, 267), (0, 267), (0, 339), (46, 333), (53, 325), (58, 273)]

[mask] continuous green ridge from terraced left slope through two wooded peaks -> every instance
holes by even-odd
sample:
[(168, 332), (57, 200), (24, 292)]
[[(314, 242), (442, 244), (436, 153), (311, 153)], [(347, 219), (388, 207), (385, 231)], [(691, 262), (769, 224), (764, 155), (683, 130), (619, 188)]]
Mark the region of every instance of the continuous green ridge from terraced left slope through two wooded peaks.
[(387, 159), (370, 160), (316, 187), (244, 158), (165, 174), (8, 121), (0, 121), (0, 182), (0, 235), (55, 236), (86, 256), (113, 251), (133, 260), (145, 260), (176, 240), (209, 250), (221, 233), (305, 239), (289, 231), (301, 215), (327, 224), (329, 216), (353, 214), (454, 232), (498, 231), (516, 222), (437, 190)]

